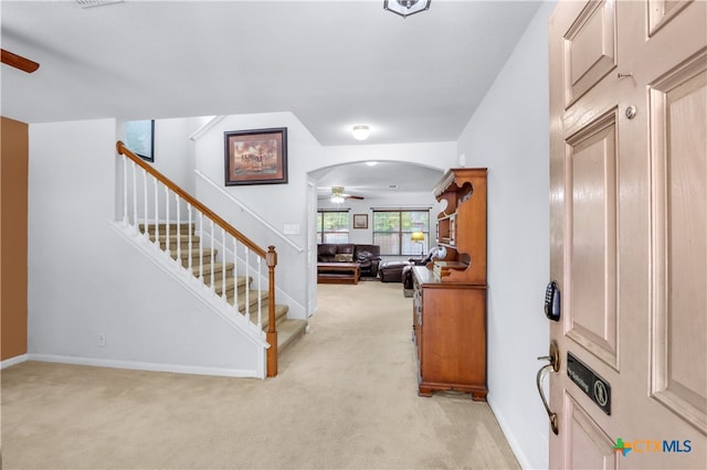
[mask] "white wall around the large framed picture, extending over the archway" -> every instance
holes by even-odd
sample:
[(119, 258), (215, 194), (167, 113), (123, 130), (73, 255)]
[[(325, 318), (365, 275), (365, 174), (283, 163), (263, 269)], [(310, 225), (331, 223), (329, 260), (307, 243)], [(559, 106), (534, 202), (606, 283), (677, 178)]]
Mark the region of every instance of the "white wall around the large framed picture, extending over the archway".
[[(425, 164), (444, 170), (456, 161), (455, 142), (410, 143), (394, 146), (321, 147), (292, 113), (226, 116), (196, 143), (196, 168), (213, 182), (224, 184), (223, 132), (247, 129), (287, 128), (287, 184), (224, 186), (233, 197), (263, 217), (282, 234), (284, 225), (297, 225), (298, 235), (286, 235), (298, 252), (284, 244), (277, 235), (254, 224), (244, 224), (245, 214), (229, 204), (218, 192), (197, 181), (197, 197), (221, 217), (241, 229), (260, 246), (274, 245), (278, 254), (276, 285), (288, 296), (292, 316), (306, 318), (312, 313), (310, 297), (316, 292), (310, 246), (316, 232), (308, 229), (308, 173), (333, 164), (368, 160), (391, 160)], [(433, 156), (432, 158), (430, 156)], [(370, 201), (368, 202), (370, 204)], [(316, 206), (316, 204), (315, 204)], [(370, 223), (370, 220), (369, 220)], [(354, 231), (352, 231), (354, 232)], [(357, 235), (358, 237), (358, 235)], [(357, 238), (358, 239), (358, 238)], [(370, 241), (370, 237), (368, 238)]]

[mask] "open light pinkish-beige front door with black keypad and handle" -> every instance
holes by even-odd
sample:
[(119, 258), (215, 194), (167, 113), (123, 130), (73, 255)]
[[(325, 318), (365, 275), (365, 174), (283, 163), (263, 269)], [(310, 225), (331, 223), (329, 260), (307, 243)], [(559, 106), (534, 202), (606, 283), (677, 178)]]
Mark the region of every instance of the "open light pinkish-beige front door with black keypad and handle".
[(552, 468), (707, 468), (706, 6), (550, 19)]

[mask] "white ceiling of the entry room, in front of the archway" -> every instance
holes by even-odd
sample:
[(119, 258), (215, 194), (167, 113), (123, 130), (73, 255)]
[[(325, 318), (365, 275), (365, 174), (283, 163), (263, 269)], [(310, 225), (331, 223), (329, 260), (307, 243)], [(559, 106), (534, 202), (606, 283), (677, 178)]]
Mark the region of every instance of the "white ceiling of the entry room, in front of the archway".
[[(2, 47), (41, 66), (0, 68), (0, 113), (34, 124), (292, 111), (323, 146), (455, 141), (539, 7), (433, 0), (402, 19), (382, 4), (2, 0)], [(363, 143), (358, 124), (371, 128)]]

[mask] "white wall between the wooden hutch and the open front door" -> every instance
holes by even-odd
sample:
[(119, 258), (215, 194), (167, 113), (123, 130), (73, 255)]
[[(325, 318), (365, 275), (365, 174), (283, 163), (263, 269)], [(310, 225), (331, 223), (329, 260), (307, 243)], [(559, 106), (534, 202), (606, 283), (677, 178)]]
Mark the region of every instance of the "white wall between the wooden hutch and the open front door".
[(488, 168), (488, 402), (524, 468), (548, 466), (535, 385), (549, 348), (549, 114), (544, 3), (458, 140)]

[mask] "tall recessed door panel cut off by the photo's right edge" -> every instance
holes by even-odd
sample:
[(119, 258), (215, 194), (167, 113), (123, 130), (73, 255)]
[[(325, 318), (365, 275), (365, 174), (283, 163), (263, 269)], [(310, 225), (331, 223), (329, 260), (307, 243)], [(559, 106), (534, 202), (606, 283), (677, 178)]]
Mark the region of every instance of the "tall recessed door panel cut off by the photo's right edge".
[[(652, 396), (707, 432), (707, 51), (651, 87), (655, 168)], [(701, 214), (701, 216), (699, 216)]]

